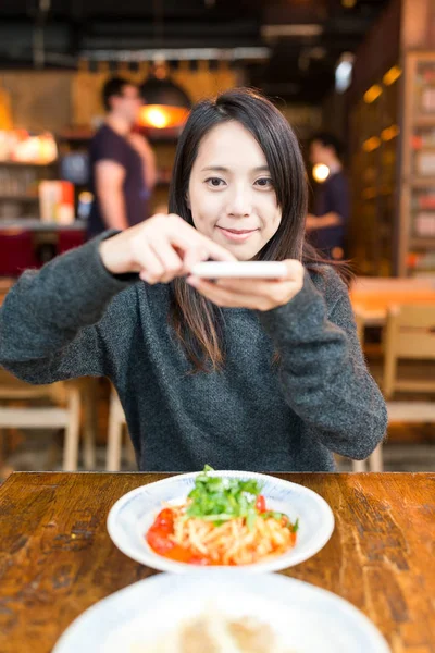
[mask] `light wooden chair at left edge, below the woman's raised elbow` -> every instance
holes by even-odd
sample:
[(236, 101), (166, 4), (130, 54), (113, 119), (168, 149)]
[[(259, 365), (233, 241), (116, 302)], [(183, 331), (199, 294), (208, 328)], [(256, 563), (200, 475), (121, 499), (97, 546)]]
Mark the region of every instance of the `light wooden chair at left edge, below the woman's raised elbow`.
[[(30, 403), (48, 399), (50, 406), (0, 406), (0, 429), (64, 429), (63, 470), (75, 471), (78, 464), (80, 434), (82, 386), (79, 382), (61, 382), (52, 385), (29, 385), (18, 381), (5, 370), (0, 370), (0, 399)], [(84, 463), (86, 469), (95, 468), (95, 426), (85, 416)]]

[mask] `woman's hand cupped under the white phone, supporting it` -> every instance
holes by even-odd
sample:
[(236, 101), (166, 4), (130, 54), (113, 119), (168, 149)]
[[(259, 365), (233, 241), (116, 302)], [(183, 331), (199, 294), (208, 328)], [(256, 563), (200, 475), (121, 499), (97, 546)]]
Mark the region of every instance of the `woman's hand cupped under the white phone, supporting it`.
[(215, 282), (189, 276), (187, 282), (201, 295), (226, 308), (272, 310), (287, 304), (303, 285), (303, 266), (296, 260), (284, 261), (287, 276), (276, 281), (261, 279), (220, 279)]

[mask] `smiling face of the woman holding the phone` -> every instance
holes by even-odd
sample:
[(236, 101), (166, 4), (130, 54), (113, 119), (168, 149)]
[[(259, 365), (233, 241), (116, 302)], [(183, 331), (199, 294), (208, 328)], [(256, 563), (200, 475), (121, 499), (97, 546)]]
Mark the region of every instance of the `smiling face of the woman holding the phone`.
[(252, 259), (276, 233), (281, 209), (268, 162), (240, 123), (222, 123), (201, 140), (188, 204), (196, 229), (240, 261)]

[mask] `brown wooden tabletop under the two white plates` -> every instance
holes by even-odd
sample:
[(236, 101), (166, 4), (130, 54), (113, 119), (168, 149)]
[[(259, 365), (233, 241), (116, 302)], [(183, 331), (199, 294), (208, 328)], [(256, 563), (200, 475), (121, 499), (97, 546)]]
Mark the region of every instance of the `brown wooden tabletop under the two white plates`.
[[(115, 547), (105, 518), (120, 496), (164, 476), (8, 479), (0, 488), (2, 653), (48, 653), (87, 607), (154, 574)], [(394, 653), (434, 653), (435, 473), (278, 476), (321, 494), (336, 519), (326, 546), (285, 574), (353, 603)]]

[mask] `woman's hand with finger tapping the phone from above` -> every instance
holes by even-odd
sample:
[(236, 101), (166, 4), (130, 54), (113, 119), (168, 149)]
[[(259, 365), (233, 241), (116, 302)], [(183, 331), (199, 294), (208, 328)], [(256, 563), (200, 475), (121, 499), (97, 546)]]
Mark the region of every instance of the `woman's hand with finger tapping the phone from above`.
[(236, 260), (224, 247), (174, 214), (153, 215), (102, 241), (100, 256), (112, 274), (139, 272), (140, 279), (150, 284), (169, 283), (208, 259)]

